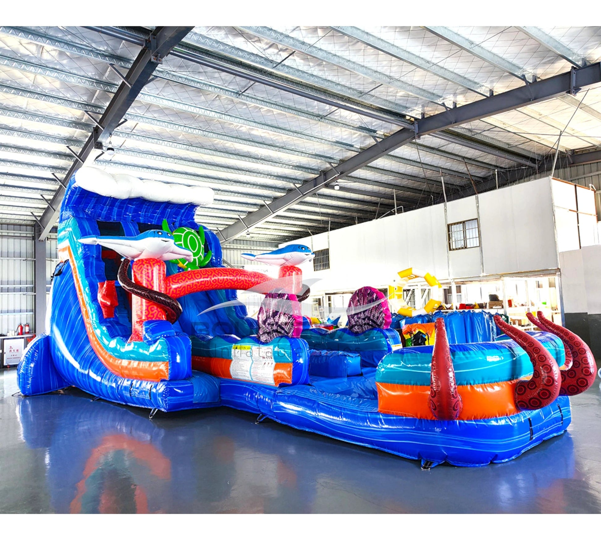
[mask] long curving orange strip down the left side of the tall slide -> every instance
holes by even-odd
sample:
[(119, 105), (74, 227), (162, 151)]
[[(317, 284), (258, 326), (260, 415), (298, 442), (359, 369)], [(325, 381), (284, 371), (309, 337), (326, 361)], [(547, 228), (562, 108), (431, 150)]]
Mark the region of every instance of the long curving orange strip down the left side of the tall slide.
[(145, 381), (160, 381), (162, 379), (169, 379), (168, 361), (151, 362), (119, 359), (104, 349), (99, 338), (96, 336), (96, 332), (94, 332), (94, 328), (90, 320), (90, 311), (88, 310), (88, 306), (85, 304), (84, 291), (82, 289), (81, 281), (79, 280), (77, 266), (73, 263), (74, 258), (73, 252), (71, 251), (71, 246), (67, 245), (65, 250), (69, 254), (71, 271), (73, 272), (73, 282), (75, 283), (75, 289), (77, 290), (82, 316), (84, 316), (85, 330), (88, 334), (88, 339), (90, 340), (92, 349), (94, 350), (94, 353), (99, 356), (102, 364), (111, 370), (112, 373), (121, 377), (143, 379)]

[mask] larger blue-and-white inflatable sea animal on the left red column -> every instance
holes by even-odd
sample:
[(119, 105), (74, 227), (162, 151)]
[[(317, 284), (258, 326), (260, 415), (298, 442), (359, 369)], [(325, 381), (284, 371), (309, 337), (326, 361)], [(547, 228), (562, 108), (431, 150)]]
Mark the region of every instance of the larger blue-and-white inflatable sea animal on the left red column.
[(192, 261), (192, 252), (175, 245), (173, 235), (166, 231), (150, 230), (137, 237), (81, 237), (82, 244), (100, 244), (128, 259), (160, 259), (170, 261), (184, 258)]

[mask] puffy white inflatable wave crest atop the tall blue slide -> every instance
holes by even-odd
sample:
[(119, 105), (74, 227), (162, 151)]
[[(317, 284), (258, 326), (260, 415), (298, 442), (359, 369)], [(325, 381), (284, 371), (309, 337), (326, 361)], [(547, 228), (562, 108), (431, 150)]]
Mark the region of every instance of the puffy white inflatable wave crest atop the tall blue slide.
[(75, 185), (95, 194), (132, 199), (141, 197), (159, 203), (184, 203), (207, 206), (213, 203), (213, 190), (202, 186), (167, 184), (142, 180), (131, 175), (111, 175), (97, 167), (81, 167), (75, 172)]

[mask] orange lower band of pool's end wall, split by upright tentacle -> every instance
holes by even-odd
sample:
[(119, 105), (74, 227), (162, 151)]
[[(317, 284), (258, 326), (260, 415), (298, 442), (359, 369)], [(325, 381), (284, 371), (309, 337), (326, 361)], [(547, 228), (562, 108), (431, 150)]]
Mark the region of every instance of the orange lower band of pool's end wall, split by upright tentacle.
[[(514, 399), (517, 381), (459, 385), (457, 390), (463, 402), (459, 420), (489, 419), (519, 413)], [(398, 385), (379, 382), (376, 382), (376, 385), (379, 412), (418, 419), (435, 419), (429, 406), (429, 385)]]

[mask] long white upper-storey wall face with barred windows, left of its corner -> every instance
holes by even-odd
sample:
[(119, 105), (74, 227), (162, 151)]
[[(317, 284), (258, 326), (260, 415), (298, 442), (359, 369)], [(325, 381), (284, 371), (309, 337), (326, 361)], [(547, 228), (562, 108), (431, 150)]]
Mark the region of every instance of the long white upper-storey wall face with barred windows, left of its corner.
[[(363, 285), (385, 287), (398, 271), (418, 267), (439, 280), (484, 274), (538, 271), (558, 267), (551, 179), (533, 180), (479, 196), (480, 248), (450, 252), (444, 204), (303, 237), (299, 243), (319, 250), (329, 247), (330, 268), (313, 271), (304, 264), (304, 278), (320, 281), (314, 295), (352, 291)], [(447, 204), (447, 222), (477, 218), (475, 196)], [(451, 273), (449, 272), (451, 264)]]

